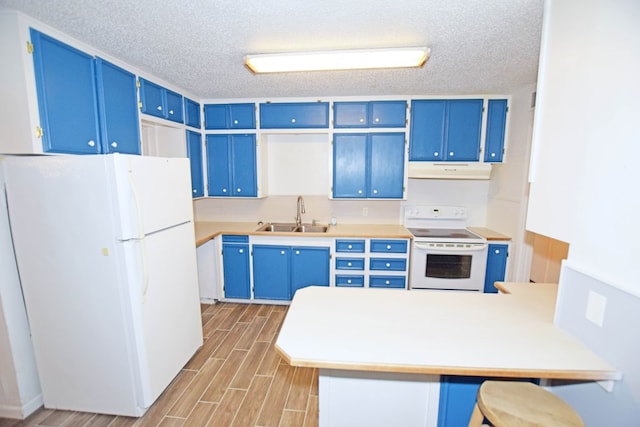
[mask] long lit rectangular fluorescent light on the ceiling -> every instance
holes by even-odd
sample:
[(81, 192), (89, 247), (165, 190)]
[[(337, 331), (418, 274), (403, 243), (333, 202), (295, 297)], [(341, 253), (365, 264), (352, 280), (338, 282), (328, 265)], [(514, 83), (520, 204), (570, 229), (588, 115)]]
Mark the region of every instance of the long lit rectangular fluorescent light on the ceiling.
[(336, 50), (325, 52), (265, 53), (247, 55), (244, 63), (254, 73), (362, 70), (421, 67), (429, 57), (427, 47)]

